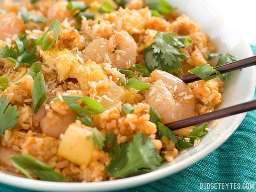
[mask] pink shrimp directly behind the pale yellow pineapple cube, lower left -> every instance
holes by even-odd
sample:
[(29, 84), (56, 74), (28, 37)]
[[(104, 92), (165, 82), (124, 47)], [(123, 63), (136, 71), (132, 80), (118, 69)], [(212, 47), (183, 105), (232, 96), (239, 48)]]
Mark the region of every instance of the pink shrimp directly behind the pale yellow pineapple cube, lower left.
[(54, 138), (59, 138), (61, 133), (65, 133), (71, 123), (76, 120), (76, 112), (70, 112), (67, 115), (60, 115), (52, 110), (49, 110), (40, 120), (40, 128), (42, 133)]

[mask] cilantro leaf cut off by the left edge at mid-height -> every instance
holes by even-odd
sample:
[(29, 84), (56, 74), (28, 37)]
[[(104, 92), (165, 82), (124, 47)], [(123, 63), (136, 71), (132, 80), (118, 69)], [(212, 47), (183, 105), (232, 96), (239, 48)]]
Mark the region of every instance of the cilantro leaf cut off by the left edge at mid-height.
[(14, 127), (19, 122), (17, 106), (9, 104), (9, 98), (5, 100), (3, 98), (3, 96), (0, 98), (0, 136), (5, 130)]

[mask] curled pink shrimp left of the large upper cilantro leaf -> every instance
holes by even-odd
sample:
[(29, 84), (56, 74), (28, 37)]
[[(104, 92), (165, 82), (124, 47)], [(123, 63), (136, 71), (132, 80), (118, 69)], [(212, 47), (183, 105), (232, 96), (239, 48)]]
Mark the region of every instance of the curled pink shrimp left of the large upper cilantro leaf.
[(111, 62), (118, 69), (131, 68), (136, 62), (137, 44), (125, 31), (114, 31), (109, 39), (98, 38), (82, 51), (86, 59), (97, 63)]

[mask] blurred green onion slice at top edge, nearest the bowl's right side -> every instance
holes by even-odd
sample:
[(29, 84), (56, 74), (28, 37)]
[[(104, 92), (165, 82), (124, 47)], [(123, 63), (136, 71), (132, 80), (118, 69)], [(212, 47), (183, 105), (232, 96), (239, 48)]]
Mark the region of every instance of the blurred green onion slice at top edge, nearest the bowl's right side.
[(145, 2), (145, 5), (161, 14), (175, 12), (175, 9), (164, 0), (149, 0)]

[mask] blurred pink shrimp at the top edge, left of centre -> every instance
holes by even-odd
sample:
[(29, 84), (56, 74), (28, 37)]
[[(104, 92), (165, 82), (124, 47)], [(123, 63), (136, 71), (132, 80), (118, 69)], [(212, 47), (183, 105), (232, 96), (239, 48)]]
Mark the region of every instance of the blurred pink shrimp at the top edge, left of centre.
[(72, 12), (67, 10), (68, 1), (61, 0), (53, 4), (46, 14), (47, 23), (50, 24), (53, 20), (60, 20), (60, 22), (64, 21), (65, 18), (68, 20), (72, 19)]

